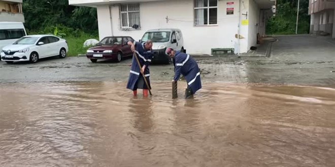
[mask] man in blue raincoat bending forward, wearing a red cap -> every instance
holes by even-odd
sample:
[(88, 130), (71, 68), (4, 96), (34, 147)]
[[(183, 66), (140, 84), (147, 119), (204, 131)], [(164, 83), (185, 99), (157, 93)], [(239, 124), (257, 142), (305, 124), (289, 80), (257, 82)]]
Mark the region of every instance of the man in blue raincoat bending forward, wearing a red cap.
[(180, 74), (186, 78), (187, 89), (185, 90), (185, 98), (193, 98), (196, 91), (202, 88), (200, 80), (200, 71), (195, 60), (190, 55), (176, 52), (172, 48), (166, 49), (166, 54), (174, 59), (175, 77), (174, 82), (179, 80)]

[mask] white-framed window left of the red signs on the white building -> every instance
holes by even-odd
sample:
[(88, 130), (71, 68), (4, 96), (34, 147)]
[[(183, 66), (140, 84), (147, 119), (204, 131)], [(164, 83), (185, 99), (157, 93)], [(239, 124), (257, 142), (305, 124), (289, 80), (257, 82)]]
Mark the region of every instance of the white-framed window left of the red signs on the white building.
[(218, 23), (218, 0), (194, 0), (194, 25)]

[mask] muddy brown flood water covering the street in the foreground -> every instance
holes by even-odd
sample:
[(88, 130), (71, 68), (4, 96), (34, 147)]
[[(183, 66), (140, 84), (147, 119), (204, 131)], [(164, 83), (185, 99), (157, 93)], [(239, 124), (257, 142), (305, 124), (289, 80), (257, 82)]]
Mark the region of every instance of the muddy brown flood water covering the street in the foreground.
[(335, 89), (2, 84), (0, 166), (335, 166)]

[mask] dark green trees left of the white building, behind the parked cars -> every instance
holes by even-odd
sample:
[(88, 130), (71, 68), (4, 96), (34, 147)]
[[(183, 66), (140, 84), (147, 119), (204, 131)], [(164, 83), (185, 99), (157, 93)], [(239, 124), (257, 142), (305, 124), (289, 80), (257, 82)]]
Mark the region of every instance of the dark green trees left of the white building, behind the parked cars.
[(68, 0), (23, 0), (23, 13), (28, 30), (64, 25), (97, 33), (96, 8), (70, 6)]

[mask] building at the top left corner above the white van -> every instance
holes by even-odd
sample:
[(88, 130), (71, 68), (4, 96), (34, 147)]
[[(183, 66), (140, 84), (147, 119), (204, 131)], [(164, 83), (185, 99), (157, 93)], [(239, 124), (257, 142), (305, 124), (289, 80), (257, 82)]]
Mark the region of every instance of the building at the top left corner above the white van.
[(0, 1), (0, 21), (24, 23), (22, 0)]

